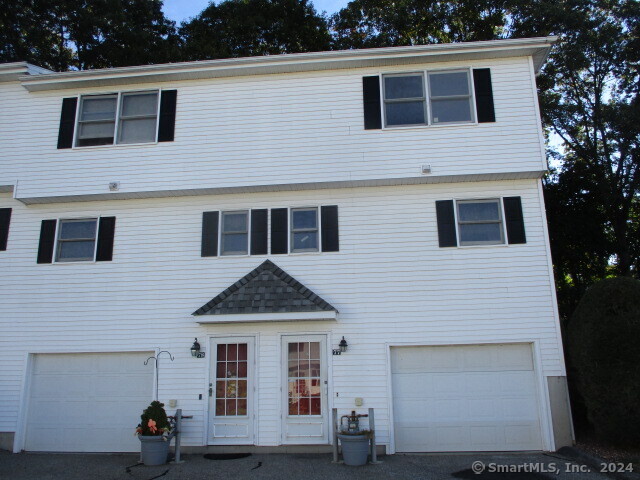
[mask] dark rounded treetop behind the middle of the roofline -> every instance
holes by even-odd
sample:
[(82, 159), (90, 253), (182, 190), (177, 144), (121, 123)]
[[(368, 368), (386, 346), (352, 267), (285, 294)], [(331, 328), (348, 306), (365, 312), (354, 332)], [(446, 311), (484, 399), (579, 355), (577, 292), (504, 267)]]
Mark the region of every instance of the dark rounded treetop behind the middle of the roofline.
[(308, 0), (225, 0), (182, 25), (188, 60), (328, 50), (327, 21)]

